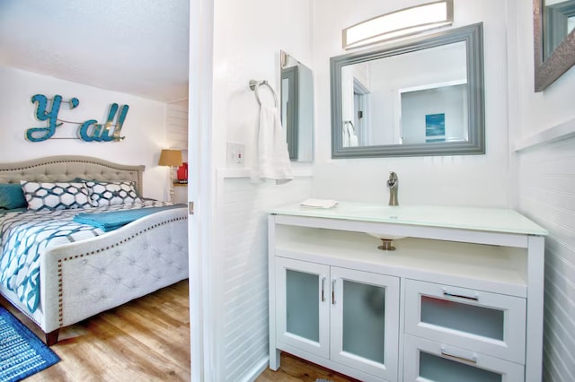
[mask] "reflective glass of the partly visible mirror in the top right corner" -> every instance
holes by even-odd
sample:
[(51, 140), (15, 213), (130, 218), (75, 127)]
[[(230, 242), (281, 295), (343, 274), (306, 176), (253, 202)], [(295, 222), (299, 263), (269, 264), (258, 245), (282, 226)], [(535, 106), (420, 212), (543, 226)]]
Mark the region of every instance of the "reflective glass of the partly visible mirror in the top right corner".
[(575, 30), (575, 0), (544, 0), (544, 60)]

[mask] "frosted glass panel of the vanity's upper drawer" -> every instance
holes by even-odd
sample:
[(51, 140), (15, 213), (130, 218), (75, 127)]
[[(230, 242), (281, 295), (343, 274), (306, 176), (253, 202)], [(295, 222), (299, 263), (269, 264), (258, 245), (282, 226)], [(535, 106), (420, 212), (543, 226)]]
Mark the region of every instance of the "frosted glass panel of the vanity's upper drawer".
[(421, 322), (503, 341), (503, 309), (421, 296)]

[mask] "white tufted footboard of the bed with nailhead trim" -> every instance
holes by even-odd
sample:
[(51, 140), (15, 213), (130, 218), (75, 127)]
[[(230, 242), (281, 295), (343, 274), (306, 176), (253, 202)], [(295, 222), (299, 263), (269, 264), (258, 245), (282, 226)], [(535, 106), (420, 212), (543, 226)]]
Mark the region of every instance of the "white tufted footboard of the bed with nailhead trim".
[(187, 210), (155, 213), (43, 254), (31, 318), (49, 334), (187, 277)]

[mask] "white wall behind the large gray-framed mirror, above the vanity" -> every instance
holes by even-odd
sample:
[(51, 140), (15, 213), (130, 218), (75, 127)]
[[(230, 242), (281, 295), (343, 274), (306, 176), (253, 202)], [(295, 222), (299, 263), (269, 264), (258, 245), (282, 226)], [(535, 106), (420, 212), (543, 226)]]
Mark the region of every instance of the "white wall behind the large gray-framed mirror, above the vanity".
[[(399, 176), (400, 204), (508, 206), (507, 52), (500, 0), (456, 0), (454, 27), (483, 22), (487, 153), (472, 156), (331, 159), (329, 58), (344, 54), (341, 30), (424, 1), (315, 0), (316, 158), (314, 196), (387, 203), (385, 180)], [(352, 186), (351, 186), (352, 185)]]

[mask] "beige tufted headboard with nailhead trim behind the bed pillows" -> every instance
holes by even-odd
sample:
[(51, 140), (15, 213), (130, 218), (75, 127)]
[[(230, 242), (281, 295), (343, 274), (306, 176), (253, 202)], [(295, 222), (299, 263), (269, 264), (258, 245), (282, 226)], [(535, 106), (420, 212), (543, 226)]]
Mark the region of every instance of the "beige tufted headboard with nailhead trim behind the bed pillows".
[(0, 183), (69, 182), (76, 178), (100, 181), (133, 180), (139, 195), (143, 195), (142, 173), (145, 166), (128, 166), (81, 155), (57, 155), (0, 163)]

